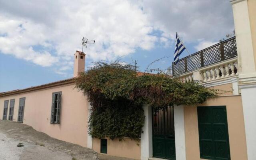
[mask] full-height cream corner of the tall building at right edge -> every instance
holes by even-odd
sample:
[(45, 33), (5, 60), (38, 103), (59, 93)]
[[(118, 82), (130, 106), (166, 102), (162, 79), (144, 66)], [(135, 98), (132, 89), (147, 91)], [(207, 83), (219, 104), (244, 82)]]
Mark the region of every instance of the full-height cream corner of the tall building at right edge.
[(256, 1), (231, 0), (248, 160), (256, 160)]

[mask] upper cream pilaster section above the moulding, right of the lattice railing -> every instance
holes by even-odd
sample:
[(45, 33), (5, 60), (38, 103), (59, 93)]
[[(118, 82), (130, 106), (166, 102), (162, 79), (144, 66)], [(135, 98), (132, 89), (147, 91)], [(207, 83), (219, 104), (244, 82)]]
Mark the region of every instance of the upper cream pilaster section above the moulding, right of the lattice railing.
[(236, 30), (238, 70), (241, 82), (242, 78), (256, 76), (248, 3), (247, 0), (232, 0), (231, 3)]

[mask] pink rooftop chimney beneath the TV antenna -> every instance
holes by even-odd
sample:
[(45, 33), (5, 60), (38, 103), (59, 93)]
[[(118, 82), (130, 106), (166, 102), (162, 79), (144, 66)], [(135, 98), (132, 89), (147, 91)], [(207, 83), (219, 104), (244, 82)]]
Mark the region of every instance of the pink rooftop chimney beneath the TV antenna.
[(78, 50), (74, 54), (74, 77), (78, 76), (80, 72), (84, 72), (85, 55), (84, 52)]

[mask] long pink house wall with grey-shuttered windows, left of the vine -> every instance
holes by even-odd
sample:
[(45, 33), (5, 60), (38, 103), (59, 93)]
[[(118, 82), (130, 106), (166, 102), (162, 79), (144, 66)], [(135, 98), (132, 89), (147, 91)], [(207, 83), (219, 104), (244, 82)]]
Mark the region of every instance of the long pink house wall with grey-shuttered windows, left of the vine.
[[(50, 124), (52, 92), (59, 91), (62, 92), (60, 124)], [(19, 98), (22, 97), (26, 97), (24, 124), (59, 140), (87, 146), (88, 102), (86, 96), (74, 89), (73, 84), (1, 97), (0, 119), (3, 115), (4, 100), (15, 99), (13, 120), (17, 121)]]

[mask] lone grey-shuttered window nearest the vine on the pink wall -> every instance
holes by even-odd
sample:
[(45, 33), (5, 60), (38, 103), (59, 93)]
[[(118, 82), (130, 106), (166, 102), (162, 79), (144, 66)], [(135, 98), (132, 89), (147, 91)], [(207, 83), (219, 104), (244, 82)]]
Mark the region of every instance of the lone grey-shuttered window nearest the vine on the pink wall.
[(52, 110), (50, 123), (60, 123), (61, 92), (52, 93)]

